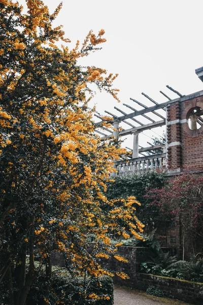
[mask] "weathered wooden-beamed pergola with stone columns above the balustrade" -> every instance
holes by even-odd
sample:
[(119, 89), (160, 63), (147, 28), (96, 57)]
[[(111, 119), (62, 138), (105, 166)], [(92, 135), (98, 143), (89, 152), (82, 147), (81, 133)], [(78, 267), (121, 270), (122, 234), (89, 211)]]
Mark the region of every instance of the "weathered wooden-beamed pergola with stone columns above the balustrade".
[[(97, 116), (98, 118), (101, 119), (99, 122), (95, 123), (95, 132), (98, 133), (99, 135), (101, 135), (102, 136), (101, 139), (103, 139), (103, 140), (110, 139), (112, 136), (117, 138), (118, 135), (119, 136), (126, 136), (126, 135), (129, 135), (129, 134), (133, 134), (132, 149), (126, 147), (126, 148), (132, 150), (132, 158), (138, 158), (139, 154), (145, 156), (143, 153), (146, 152), (146, 151), (151, 151), (151, 153), (154, 154), (153, 150), (158, 149), (158, 148), (163, 148), (164, 145), (162, 145), (162, 144), (152, 145), (151, 143), (148, 142), (150, 144), (149, 147), (141, 147), (140, 146), (141, 148), (139, 149), (139, 133), (142, 132), (142, 131), (151, 130), (151, 129), (156, 128), (156, 127), (164, 126), (165, 123), (166, 123), (166, 118), (165, 118), (166, 116), (161, 115), (160, 113), (157, 112), (157, 110), (162, 109), (162, 110), (166, 111), (166, 108), (165, 108), (166, 105), (168, 105), (170, 103), (174, 103), (176, 101), (179, 101), (179, 99), (181, 97), (183, 97), (183, 95), (180, 94), (174, 88), (172, 88), (168, 85), (166, 85), (166, 87), (168, 89), (170, 89), (172, 92), (174, 92), (178, 96), (178, 98), (171, 99), (165, 93), (160, 91), (160, 94), (163, 95), (167, 99), (167, 101), (164, 102), (164, 103), (159, 104), (155, 100), (150, 98), (148, 95), (146, 95), (145, 93), (142, 93), (142, 95), (146, 99), (150, 100), (154, 104), (154, 106), (147, 107), (145, 104), (143, 104), (143, 103), (141, 103), (141, 102), (139, 102), (135, 99), (130, 98), (130, 100), (135, 104), (134, 107), (136, 107), (136, 105), (140, 105), (141, 107), (143, 107), (143, 109), (142, 110), (137, 110), (136, 108), (134, 108), (130, 105), (123, 104), (125, 107), (132, 110), (132, 112), (126, 113), (123, 110), (119, 109), (118, 107), (114, 107), (114, 109), (116, 109), (117, 112), (122, 113), (121, 116), (118, 116), (118, 115), (116, 115), (114, 113), (111, 113), (111, 112), (106, 110), (105, 112), (113, 117), (113, 120), (107, 121), (107, 123), (110, 123), (110, 124), (113, 125), (113, 131), (104, 127), (103, 124), (104, 124), (105, 119), (102, 119), (100, 116), (95, 114), (95, 116)], [(150, 113), (153, 113), (155, 115), (156, 119), (153, 119), (153, 118), (151, 118), (150, 116), (147, 115), (147, 114), (150, 115)], [(148, 119), (151, 123), (144, 124), (142, 122), (142, 120), (137, 119), (137, 116), (139, 116), (139, 115), (141, 117), (144, 117), (144, 118)], [(130, 119), (130, 121), (127, 121), (127, 119)], [(119, 131), (119, 124), (121, 122), (130, 126), (130, 128), (129, 129), (122, 129), (122, 131)], [(139, 126), (134, 126), (133, 125), (134, 122), (136, 122)], [(198, 124), (202, 125), (202, 122), (203, 122), (203, 120), (202, 121), (199, 120)], [(104, 131), (108, 131), (110, 134), (108, 135)]]

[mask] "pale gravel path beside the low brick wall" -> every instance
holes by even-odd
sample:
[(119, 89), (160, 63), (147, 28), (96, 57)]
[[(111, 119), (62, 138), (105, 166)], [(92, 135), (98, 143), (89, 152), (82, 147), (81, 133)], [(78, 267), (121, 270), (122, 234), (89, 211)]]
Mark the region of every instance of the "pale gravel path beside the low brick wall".
[[(114, 286), (114, 305), (187, 305), (186, 303), (147, 296), (128, 287)], [(188, 304), (189, 305), (189, 304)]]

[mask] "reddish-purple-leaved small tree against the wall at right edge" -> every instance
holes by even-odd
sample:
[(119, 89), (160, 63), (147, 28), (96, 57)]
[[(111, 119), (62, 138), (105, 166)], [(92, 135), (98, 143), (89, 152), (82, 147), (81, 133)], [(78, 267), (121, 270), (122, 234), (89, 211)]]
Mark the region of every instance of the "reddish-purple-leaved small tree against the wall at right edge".
[(171, 218), (180, 218), (182, 259), (202, 253), (203, 177), (183, 174), (168, 180), (153, 194), (153, 205)]

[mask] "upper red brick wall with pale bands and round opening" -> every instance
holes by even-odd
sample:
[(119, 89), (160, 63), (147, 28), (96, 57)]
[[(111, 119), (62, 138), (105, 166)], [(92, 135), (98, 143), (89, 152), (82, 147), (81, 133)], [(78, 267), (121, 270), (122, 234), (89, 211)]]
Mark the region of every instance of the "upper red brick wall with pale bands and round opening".
[(190, 130), (186, 121), (195, 107), (203, 109), (203, 96), (167, 106), (167, 153), (171, 170), (203, 170), (203, 126)]

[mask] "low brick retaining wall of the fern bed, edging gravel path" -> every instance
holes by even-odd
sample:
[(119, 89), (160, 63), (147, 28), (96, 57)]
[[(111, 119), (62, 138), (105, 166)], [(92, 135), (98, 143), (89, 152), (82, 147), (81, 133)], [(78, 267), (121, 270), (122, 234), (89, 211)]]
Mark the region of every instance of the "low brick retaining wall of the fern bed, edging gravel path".
[(155, 286), (163, 291), (166, 297), (190, 302), (195, 305), (203, 304), (203, 283), (154, 276), (145, 273), (134, 273), (129, 280), (122, 280), (116, 277), (115, 282), (144, 291), (149, 286)]

